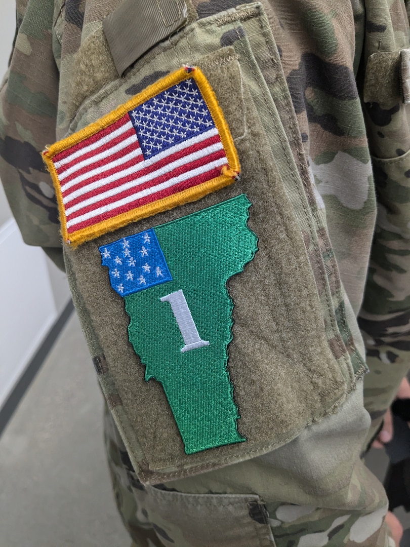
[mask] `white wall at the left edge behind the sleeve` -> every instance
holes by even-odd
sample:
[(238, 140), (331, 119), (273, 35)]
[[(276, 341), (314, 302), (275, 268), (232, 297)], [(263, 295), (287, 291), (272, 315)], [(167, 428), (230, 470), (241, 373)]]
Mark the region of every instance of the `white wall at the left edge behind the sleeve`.
[[(15, 30), (15, 2), (0, 3), (0, 80)], [(22, 241), (0, 188), (0, 408), (69, 299), (65, 274)]]

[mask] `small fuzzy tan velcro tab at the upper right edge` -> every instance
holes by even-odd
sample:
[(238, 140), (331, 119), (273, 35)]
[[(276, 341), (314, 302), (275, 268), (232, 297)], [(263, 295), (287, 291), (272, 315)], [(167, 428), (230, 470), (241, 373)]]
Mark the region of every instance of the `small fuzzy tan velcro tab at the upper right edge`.
[(363, 100), (386, 106), (410, 102), (410, 49), (377, 51), (370, 55)]

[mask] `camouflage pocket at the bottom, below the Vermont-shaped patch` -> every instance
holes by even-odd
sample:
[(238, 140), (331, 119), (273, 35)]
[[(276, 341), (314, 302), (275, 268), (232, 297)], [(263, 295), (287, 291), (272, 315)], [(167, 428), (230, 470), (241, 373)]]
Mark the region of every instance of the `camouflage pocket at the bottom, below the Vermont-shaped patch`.
[(147, 487), (146, 509), (166, 547), (274, 547), (259, 496), (185, 494)]

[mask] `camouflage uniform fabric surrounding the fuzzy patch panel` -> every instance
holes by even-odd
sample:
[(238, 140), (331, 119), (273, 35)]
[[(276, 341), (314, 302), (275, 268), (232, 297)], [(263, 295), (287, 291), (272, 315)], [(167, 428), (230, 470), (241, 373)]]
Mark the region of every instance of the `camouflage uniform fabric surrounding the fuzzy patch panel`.
[[(237, 63), (243, 108), (255, 106), (273, 153), (345, 386), (334, 407), (307, 420), (302, 432), (292, 424), (288, 437), (250, 459), (232, 455), (216, 465), (199, 458), (194, 470), (152, 472), (144, 467), (145, 439), (130, 438), (125, 393), (92, 328), (81, 271), (66, 249), (73, 298), (111, 411), (110, 469), (134, 545), (391, 545), (383, 488), (360, 453), (409, 368), (405, 2), (263, 0), (239, 7), (235, 0), (194, 0), (187, 3), (188, 25), (120, 80), (102, 31), (119, 4), (17, 1), (1, 91), (0, 166), (26, 243), (62, 265), (54, 190), (39, 152), (114, 108), (107, 90), (115, 88), (115, 101), (125, 102), (181, 64), (198, 63), (222, 96), (218, 71)], [(221, 48), (223, 63), (215, 54)], [(241, 138), (235, 137), (238, 147)], [(370, 432), (361, 391), (365, 361)]]

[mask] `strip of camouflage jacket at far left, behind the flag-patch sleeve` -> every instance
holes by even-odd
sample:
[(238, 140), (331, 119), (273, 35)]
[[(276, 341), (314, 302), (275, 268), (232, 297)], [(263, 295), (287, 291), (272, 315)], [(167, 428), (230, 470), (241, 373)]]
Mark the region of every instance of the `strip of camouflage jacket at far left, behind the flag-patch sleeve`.
[(0, 165), (11, 210), (28, 245), (63, 267), (57, 202), (41, 150), (55, 141), (58, 69), (53, 2), (17, 2), (17, 33), (0, 92)]

